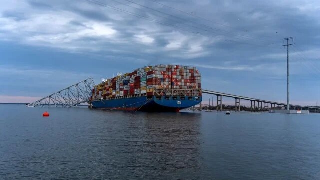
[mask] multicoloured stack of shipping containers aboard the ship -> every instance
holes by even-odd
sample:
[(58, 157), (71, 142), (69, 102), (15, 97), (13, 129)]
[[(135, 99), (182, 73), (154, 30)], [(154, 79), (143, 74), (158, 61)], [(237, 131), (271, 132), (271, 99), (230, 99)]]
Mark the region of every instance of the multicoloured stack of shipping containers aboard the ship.
[(201, 89), (201, 75), (195, 67), (147, 66), (96, 85), (92, 89), (92, 99), (153, 95), (154, 89)]

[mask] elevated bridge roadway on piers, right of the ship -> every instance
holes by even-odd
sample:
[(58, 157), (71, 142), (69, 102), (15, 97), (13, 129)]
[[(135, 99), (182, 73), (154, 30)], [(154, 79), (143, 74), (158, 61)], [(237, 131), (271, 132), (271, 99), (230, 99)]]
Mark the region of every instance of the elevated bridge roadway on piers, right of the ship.
[[(262, 108), (262, 103), (264, 103), (264, 108), (269, 108), (269, 103), (271, 104), (271, 108), (275, 107), (275, 104), (277, 104), (278, 107), (281, 107), (282, 105), (286, 106), (286, 103), (274, 102), (274, 101), (269, 101), (269, 100), (261, 100), (261, 99), (251, 98), (251, 97), (244, 97), (244, 96), (227, 94), (227, 93), (222, 93), (222, 92), (215, 92), (215, 91), (211, 91), (211, 90), (202, 89), (202, 93), (217, 95), (217, 110), (219, 110), (219, 106), (220, 106), (220, 109), (222, 109), (222, 96), (235, 98), (235, 110), (238, 110), (238, 111), (240, 111), (240, 99), (251, 101), (251, 108), (256, 107), (255, 102), (258, 102), (258, 108)], [(261, 105), (260, 105), (260, 103), (261, 103)], [(309, 106), (294, 105), (294, 104), (289, 104), (289, 105), (291, 107), (320, 109), (320, 107), (309, 107)]]

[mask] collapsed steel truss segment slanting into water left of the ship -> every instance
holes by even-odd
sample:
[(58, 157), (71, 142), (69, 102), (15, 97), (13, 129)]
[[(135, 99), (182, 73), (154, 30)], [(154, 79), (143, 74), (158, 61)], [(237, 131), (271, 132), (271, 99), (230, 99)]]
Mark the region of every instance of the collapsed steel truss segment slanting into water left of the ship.
[(88, 78), (28, 104), (28, 107), (72, 107), (88, 102), (94, 88), (92, 78)]

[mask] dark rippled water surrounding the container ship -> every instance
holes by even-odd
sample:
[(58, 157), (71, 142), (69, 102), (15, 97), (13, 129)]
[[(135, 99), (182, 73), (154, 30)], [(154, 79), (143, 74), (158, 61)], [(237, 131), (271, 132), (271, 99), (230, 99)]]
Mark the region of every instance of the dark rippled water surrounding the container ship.
[(320, 114), (0, 105), (0, 179), (319, 178)]

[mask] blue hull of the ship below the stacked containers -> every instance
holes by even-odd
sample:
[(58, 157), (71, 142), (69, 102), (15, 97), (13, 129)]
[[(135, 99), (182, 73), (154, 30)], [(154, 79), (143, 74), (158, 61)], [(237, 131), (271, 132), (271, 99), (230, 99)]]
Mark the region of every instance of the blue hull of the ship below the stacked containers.
[(94, 100), (94, 108), (117, 109), (117, 110), (139, 110), (146, 112), (179, 112), (181, 109), (189, 108), (199, 104), (202, 96), (140, 96), (124, 97), (105, 100)]

